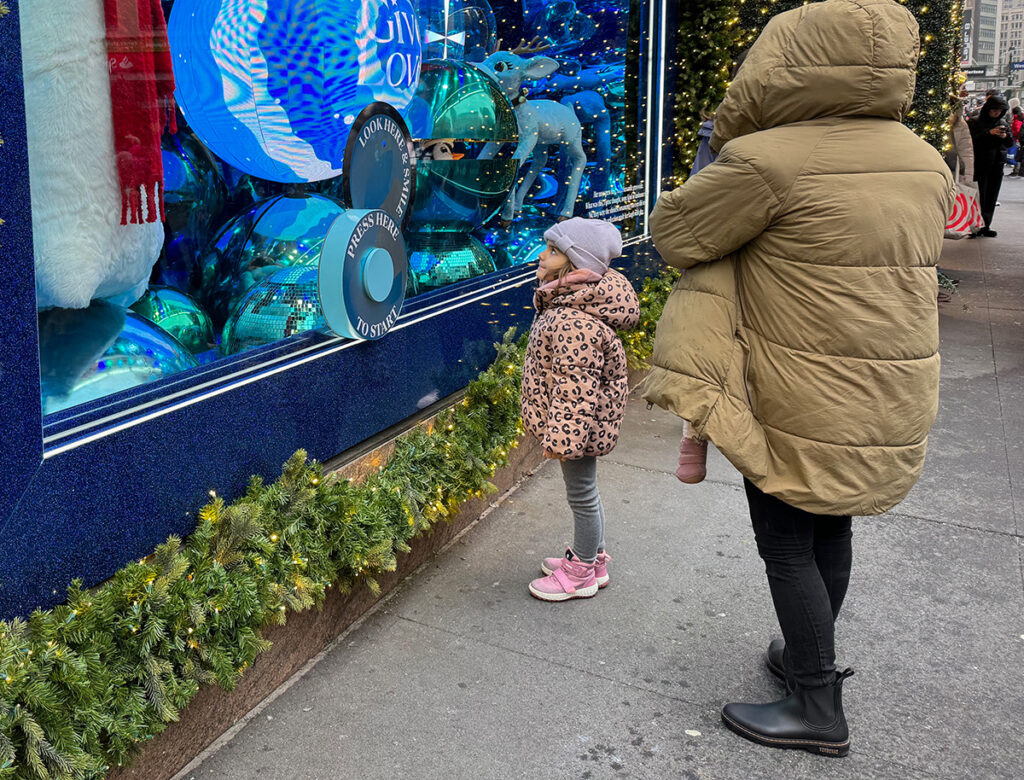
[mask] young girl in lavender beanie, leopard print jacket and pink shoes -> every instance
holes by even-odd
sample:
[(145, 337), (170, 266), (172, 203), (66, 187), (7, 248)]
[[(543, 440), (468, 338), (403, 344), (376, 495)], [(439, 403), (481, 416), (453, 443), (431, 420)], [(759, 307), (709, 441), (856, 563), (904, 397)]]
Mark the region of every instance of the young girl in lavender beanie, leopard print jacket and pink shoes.
[(615, 331), (636, 326), (640, 303), (629, 280), (608, 267), (623, 251), (614, 225), (573, 217), (544, 237), (538, 313), (522, 370), (522, 421), (545, 458), (561, 462), (574, 533), (563, 558), (544, 560), (548, 576), (530, 582), (529, 592), (566, 601), (589, 598), (608, 583), (597, 457), (615, 446), (629, 392)]

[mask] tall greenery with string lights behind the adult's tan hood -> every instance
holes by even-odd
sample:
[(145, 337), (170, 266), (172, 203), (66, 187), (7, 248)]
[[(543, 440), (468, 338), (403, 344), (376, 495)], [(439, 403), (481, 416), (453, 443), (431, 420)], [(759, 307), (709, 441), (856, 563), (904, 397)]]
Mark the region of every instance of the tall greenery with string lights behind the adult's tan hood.
[[(689, 0), (680, 3), (676, 37), (676, 154), (682, 183), (697, 150), (697, 129), (725, 96), (734, 57), (776, 13), (809, 0)], [(948, 118), (957, 91), (964, 0), (898, 0), (921, 28), (918, 85), (906, 124), (940, 151), (949, 148)]]

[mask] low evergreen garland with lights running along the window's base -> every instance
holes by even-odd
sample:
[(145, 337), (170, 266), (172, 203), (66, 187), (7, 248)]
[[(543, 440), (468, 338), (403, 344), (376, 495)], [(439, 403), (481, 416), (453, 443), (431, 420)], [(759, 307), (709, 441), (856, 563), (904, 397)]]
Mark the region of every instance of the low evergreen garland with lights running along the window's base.
[[(630, 362), (650, 355), (677, 272), (647, 279)], [(28, 620), (0, 621), (0, 779), (99, 778), (125, 764), (201, 685), (230, 689), (269, 643), (259, 631), (323, 603), (330, 588), (393, 571), (409, 541), (495, 488), (522, 435), (525, 344), (506, 334), (462, 401), (395, 442), (360, 483), (296, 452), (281, 478), (212, 496), (184, 539), (169, 538), (92, 590)]]

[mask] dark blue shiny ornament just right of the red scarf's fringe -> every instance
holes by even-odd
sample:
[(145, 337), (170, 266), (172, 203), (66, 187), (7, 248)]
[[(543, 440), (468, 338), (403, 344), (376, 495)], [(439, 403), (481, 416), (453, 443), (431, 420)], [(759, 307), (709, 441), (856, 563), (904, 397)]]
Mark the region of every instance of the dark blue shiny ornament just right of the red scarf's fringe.
[(164, 251), (151, 280), (178, 290), (198, 283), (200, 253), (227, 201), (224, 177), (206, 147), (187, 130), (165, 133)]

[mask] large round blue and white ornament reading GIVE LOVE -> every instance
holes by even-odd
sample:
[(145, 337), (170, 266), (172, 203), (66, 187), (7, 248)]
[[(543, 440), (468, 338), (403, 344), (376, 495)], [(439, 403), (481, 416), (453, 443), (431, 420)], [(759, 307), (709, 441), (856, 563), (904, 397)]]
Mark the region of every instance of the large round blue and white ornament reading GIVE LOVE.
[(359, 112), (401, 111), (420, 73), (411, 0), (176, 0), (168, 35), (189, 126), (271, 181), (340, 175)]

